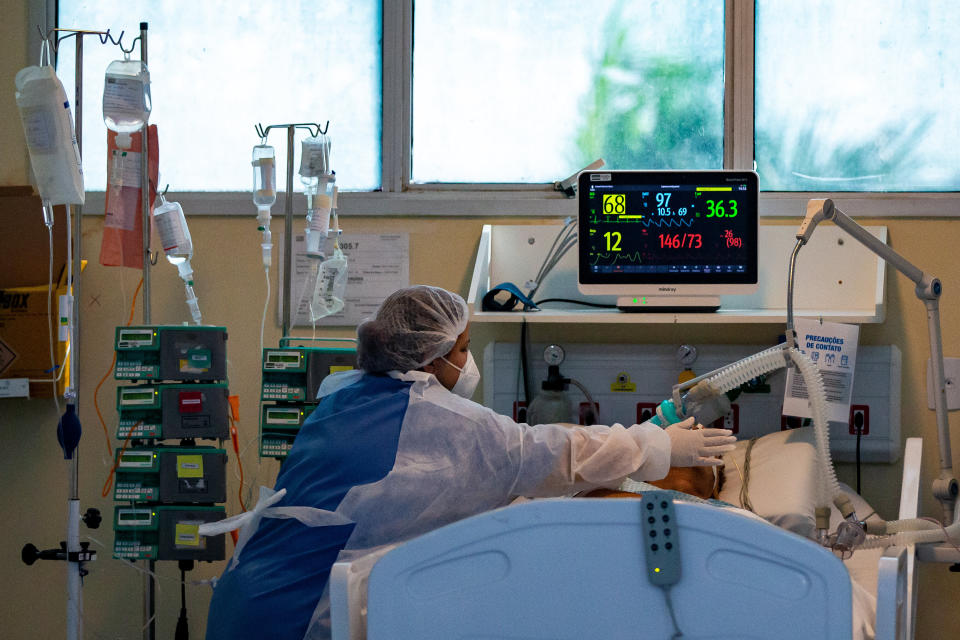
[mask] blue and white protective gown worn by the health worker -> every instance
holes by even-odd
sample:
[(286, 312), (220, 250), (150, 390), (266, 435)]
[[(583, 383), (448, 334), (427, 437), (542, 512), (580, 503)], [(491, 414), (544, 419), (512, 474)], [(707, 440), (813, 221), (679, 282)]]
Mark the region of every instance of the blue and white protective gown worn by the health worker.
[[(653, 480), (669, 469), (659, 427), (517, 424), (432, 374), (329, 376), (277, 478), (280, 506), (353, 524), (264, 518), (217, 583), (207, 640), (329, 634), (334, 562), (426, 533), (517, 496), (561, 496)], [(312, 621), (312, 622), (311, 622)]]

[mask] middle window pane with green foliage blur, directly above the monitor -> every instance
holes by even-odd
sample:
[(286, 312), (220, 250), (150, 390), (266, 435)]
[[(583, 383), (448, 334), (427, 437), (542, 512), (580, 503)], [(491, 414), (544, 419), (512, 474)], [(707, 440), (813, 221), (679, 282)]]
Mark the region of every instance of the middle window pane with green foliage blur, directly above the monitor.
[(412, 181), (721, 168), (723, 5), (417, 0)]

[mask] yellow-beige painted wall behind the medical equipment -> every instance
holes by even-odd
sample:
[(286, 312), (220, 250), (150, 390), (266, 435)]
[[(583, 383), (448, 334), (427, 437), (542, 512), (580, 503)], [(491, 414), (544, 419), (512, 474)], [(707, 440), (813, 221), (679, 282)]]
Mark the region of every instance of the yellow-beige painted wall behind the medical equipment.
[[(0, 38), (0, 69), (5, 91), (0, 91), (0, 118), (8, 126), (0, 129), (4, 149), (0, 160), (0, 185), (25, 184), (27, 161), (19, 118), (13, 102), (13, 76), (27, 61), (25, 53), (26, 9), (24, 0), (7, 3), (3, 37)], [(32, 27), (31, 27), (32, 28)], [(32, 58), (31, 58), (32, 61)], [(212, 212), (216, 213), (216, 212)], [(463, 295), (467, 293), (473, 257), (484, 223), (529, 224), (536, 219), (351, 217), (344, 225), (351, 233), (405, 231), (410, 234), (410, 278), (413, 283), (443, 286)], [(40, 224), (39, 212), (37, 222)], [(230, 388), (241, 397), (241, 439), (256, 436), (256, 406), (259, 391), (257, 343), (261, 304), (264, 295), (258, 238), (251, 216), (191, 217), (190, 228), (196, 246), (194, 268), (197, 295), (208, 323), (225, 325), (229, 331), (228, 357)], [(769, 224), (795, 225), (796, 220), (769, 220)], [(885, 224), (890, 229), (894, 249), (937, 274), (945, 282), (942, 314), (944, 350), (960, 355), (960, 336), (956, 331), (960, 318), (960, 299), (953, 295), (953, 284), (960, 282), (955, 247), (960, 246), (960, 225), (951, 218), (938, 219), (863, 219), (865, 224)], [(84, 588), (84, 615), (87, 638), (139, 638), (141, 617), (141, 577), (124, 563), (110, 559), (112, 546), (112, 500), (101, 497), (108, 472), (105, 438), (94, 410), (93, 391), (107, 372), (113, 344), (114, 327), (125, 322), (139, 272), (104, 268), (97, 264), (103, 218), (84, 219), (84, 256), (90, 267), (84, 273), (80, 307), (81, 336), (81, 420), (85, 438), (80, 451), (80, 497), (82, 508), (95, 506), (105, 515), (98, 531), (83, 529), (82, 534), (102, 542), (101, 557), (90, 566)], [(274, 231), (279, 237), (281, 224)], [(25, 251), (46, 251), (45, 247), (24, 247)], [(786, 257), (785, 257), (786, 259)], [(895, 344), (903, 353), (903, 436), (923, 436), (924, 473), (922, 511), (938, 515), (928, 487), (938, 466), (936, 428), (932, 412), (926, 409), (925, 362), (928, 353), (926, 316), (913, 294), (912, 285), (893, 273), (888, 275), (887, 320), (879, 325), (864, 325), (863, 344)], [(185, 318), (183, 292), (175, 270), (159, 264), (153, 270), (153, 321), (180, 322)], [(273, 322), (275, 307), (267, 324), (266, 344), (276, 344), (279, 328)], [(141, 318), (139, 309), (135, 319)], [(534, 325), (533, 339), (561, 342), (645, 342), (679, 344), (756, 343), (767, 345), (782, 330), (778, 326), (728, 325)], [(331, 333), (327, 333), (331, 335)], [(348, 330), (332, 335), (350, 335)], [(480, 354), (490, 340), (517, 339), (516, 327), (475, 325), (472, 330), (474, 352)], [(115, 416), (115, 383), (109, 378), (99, 392), (100, 406), (108, 424)], [(26, 567), (15, 551), (25, 542), (38, 547), (55, 546), (63, 537), (66, 514), (67, 467), (56, 444), (57, 415), (50, 400), (0, 400), (0, 469), (4, 483), (0, 488), (0, 527), (3, 548), (0, 575), (7, 585), (0, 602), (0, 635), (11, 638), (62, 637), (65, 626), (64, 568), (52, 562)], [(954, 430), (956, 436), (956, 429)], [(276, 463), (264, 462), (258, 469), (256, 446), (243, 457), (247, 480), (257, 475), (263, 484), (275, 477)], [(956, 458), (955, 455), (955, 464)], [(232, 457), (231, 457), (232, 460)], [(229, 478), (228, 512), (238, 511), (237, 482)], [(864, 496), (882, 514), (895, 517), (899, 496), (900, 465), (869, 465), (864, 472)], [(852, 482), (849, 465), (840, 465), (841, 480)], [(96, 547), (96, 543), (94, 544)], [(229, 546), (229, 545), (228, 545)], [(188, 575), (199, 580), (219, 574), (222, 563), (202, 565)], [(173, 633), (179, 611), (178, 573), (170, 563), (158, 563), (158, 633)], [(960, 594), (957, 578), (946, 566), (921, 570), (919, 638), (952, 635), (960, 628), (960, 609), (955, 606)], [(206, 622), (209, 588), (190, 587), (188, 609), (192, 637), (202, 637)]]

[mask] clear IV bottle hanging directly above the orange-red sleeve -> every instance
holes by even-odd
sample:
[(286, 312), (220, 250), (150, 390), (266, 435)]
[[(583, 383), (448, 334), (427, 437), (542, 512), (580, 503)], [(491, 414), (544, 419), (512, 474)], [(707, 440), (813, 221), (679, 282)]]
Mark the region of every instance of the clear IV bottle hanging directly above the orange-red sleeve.
[(130, 147), (130, 134), (150, 117), (150, 72), (141, 60), (114, 60), (103, 84), (103, 122), (116, 131), (117, 146)]

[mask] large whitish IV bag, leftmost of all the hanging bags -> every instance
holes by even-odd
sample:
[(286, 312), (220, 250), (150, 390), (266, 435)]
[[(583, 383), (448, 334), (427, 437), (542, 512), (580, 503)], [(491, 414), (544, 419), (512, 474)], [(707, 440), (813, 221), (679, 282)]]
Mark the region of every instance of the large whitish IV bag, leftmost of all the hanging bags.
[(21, 69), (14, 83), (40, 198), (83, 204), (83, 167), (63, 84), (50, 66)]

